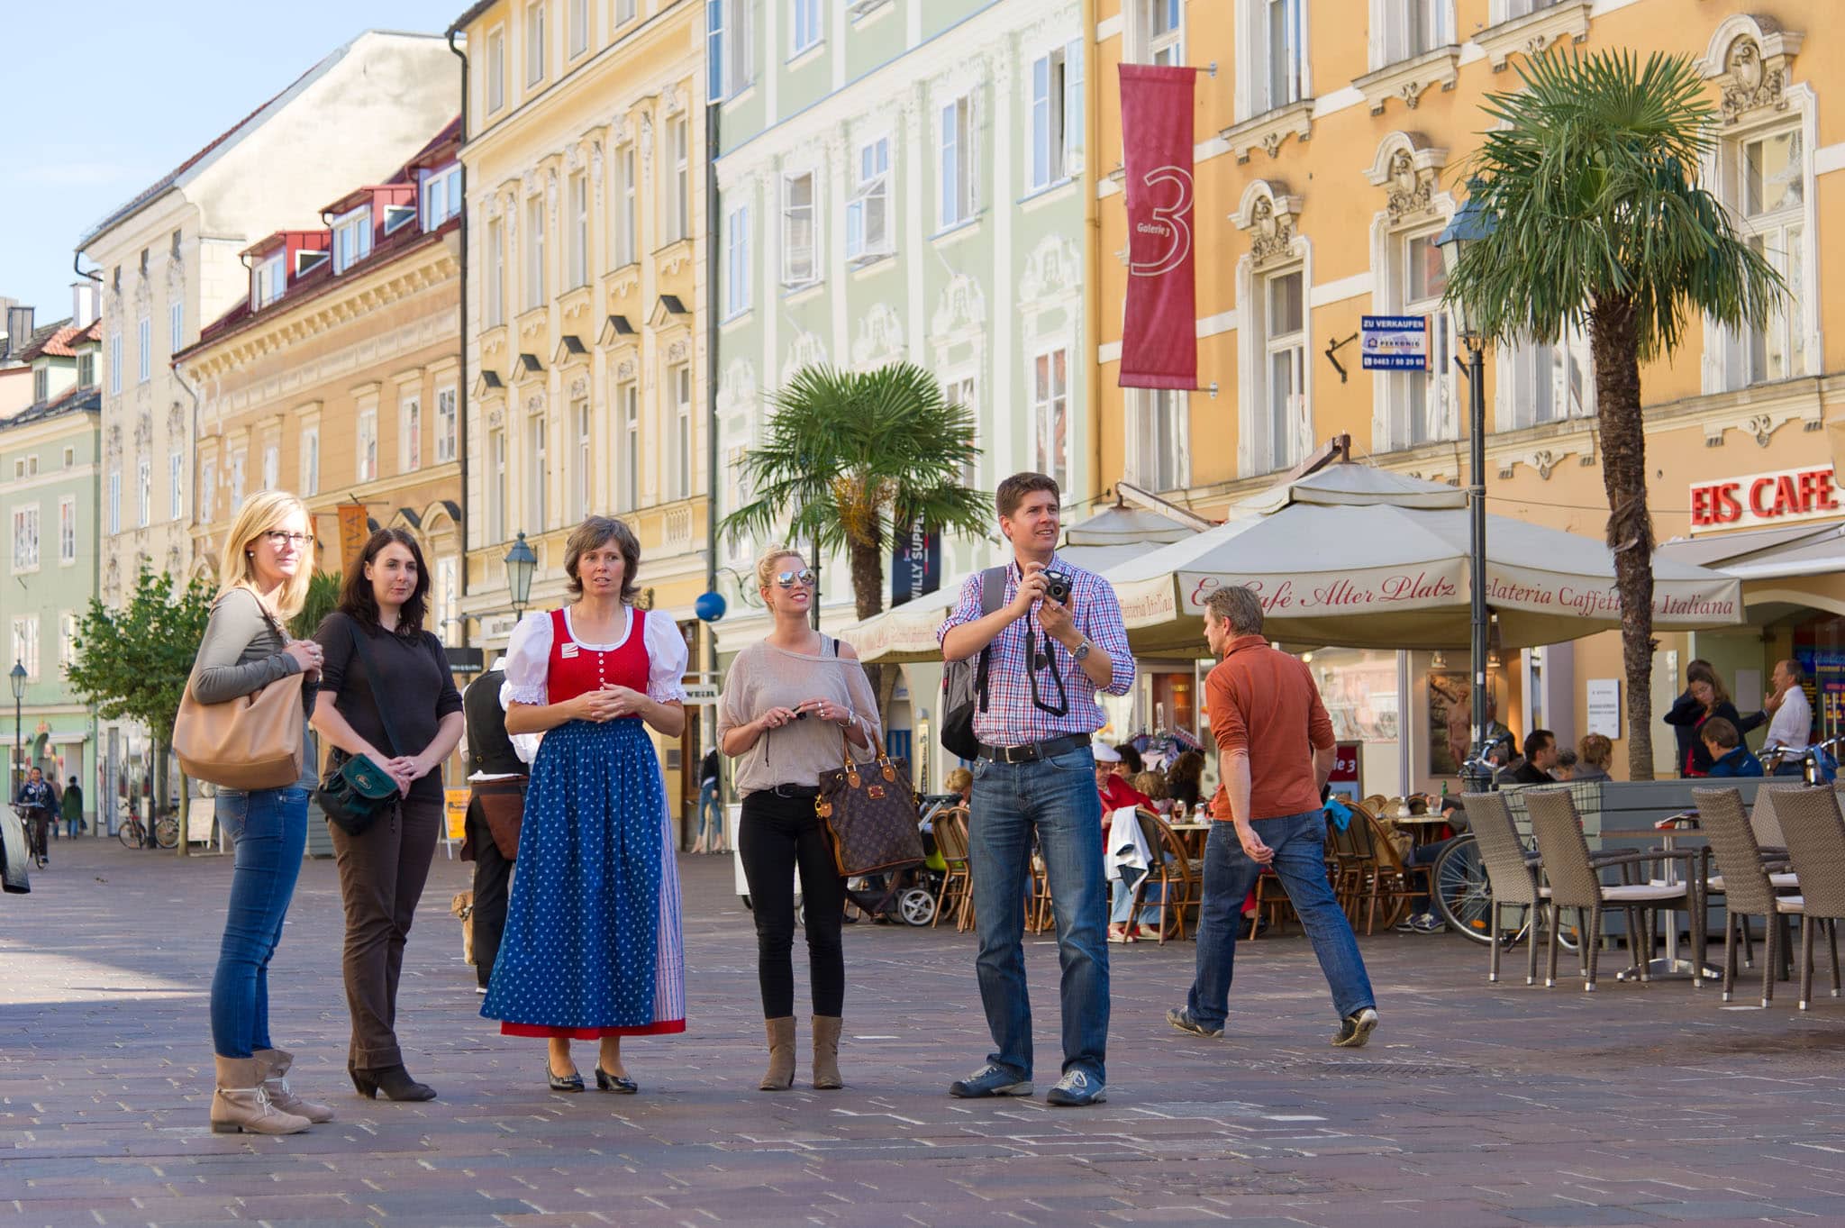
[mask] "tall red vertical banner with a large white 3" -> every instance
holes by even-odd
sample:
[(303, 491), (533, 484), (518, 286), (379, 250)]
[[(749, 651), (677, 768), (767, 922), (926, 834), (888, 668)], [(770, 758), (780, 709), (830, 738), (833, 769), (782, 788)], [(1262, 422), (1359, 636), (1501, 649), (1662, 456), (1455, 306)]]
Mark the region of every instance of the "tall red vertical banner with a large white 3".
[(1127, 175), (1127, 310), (1122, 387), (1197, 387), (1197, 275), (1192, 234), (1196, 68), (1122, 65)]

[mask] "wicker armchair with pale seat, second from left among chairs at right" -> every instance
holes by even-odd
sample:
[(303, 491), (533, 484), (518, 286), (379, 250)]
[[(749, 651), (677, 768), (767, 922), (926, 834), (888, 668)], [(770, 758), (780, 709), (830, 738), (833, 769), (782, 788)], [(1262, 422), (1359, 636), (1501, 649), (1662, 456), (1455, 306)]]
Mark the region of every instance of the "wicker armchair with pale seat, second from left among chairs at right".
[[(1544, 878), (1550, 883), (1550, 907), (1555, 909), (1576, 909), (1579, 915), (1589, 916), (1589, 924), (1583, 933), (1583, 992), (1592, 994), (1596, 988), (1596, 961), (1601, 948), (1601, 913), (1609, 907), (1618, 907), (1627, 915), (1627, 946), (1633, 950), (1635, 964), (1640, 968), (1640, 979), (1649, 981), (1648, 962), (1653, 957), (1653, 926), (1657, 924), (1657, 913), (1660, 911), (1688, 911), (1692, 916), (1699, 915), (1703, 900), (1697, 892), (1697, 883), (1690, 874), (1690, 861), (1696, 857), (1692, 852), (1635, 852), (1635, 854), (1614, 854), (1592, 857), (1589, 854), (1589, 841), (1583, 839), (1583, 824), (1576, 815), (1576, 802), (1570, 791), (1565, 789), (1526, 789), (1524, 793), (1526, 809), (1531, 815), (1531, 833), (1537, 837), (1537, 852), (1544, 859)], [(1631, 881), (1631, 870), (1644, 867), (1653, 861), (1683, 859), (1686, 861), (1686, 881), (1681, 883), (1653, 883), (1653, 881)], [(1607, 885), (1601, 881), (1601, 870), (1609, 867), (1622, 868), (1622, 883)], [(1544, 985), (1557, 983), (1557, 929), (1561, 926), (1552, 920), (1550, 926), (1550, 961), (1546, 966)], [(1692, 961), (1696, 964), (1705, 962), (1705, 927), (1692, 926)], [(1703, 985), (1703, 977), (1692, 977), (1692, 988)]]

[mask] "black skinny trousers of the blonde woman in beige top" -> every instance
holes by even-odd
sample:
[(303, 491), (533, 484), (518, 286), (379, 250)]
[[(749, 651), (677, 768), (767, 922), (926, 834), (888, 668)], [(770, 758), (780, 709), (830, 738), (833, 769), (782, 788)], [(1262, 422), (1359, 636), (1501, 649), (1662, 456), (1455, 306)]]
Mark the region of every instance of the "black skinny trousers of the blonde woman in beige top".
[(845, 881), (814, 813), (814, 798), (777, 797), (766, 789), (751, 793), (744, 798), (736, 850), (744, 857), (756, 918), (762, 1018), (795, 1012), (795, 865), (801, 867), (814, 1014), (838, 1018), (845, 1005), (845, 948), (839, 944)]

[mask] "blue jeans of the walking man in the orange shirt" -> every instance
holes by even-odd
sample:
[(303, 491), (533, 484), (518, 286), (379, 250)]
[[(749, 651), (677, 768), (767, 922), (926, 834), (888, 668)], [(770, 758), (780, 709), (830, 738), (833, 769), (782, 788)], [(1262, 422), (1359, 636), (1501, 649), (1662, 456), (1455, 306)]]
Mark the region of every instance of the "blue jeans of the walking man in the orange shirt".
[[(1301, 915), (1319, 957), (1319, 970), (1332, 986), (1332, 1005), (1339, 1018), (1375, 1007), (1371, 977), (1358, 955), (1358, 939), (1345, 909), (1327, 881), (1327, 815), (1310, 809), (1251, 824), (1262, 843), (1275, 850), (1275, 874), (1288, 891), (1288, 902)], [(1205, 839), (1205, 903), (1197, 918), (1197, 977), (1186, 1005), (1205, 1027), (1223, 1027), (1231, 1010), (1231, 979), (1236, 974), (1236, 931), (1244, 900), (1262, 872), (1236, 839), (1236, 824), (1216, 822)]]

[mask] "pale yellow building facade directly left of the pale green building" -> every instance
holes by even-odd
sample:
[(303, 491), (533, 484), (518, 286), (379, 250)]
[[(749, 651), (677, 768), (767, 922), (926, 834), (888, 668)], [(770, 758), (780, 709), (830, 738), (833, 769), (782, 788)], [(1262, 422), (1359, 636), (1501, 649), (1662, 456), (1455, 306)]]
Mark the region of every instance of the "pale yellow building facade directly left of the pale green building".
[[(705, 660), (694, 599), (710, 514), (705, 6), (494, 0), (467, 37), (467, 594), (493, 651), (504, 559), (537, 555), (533, 608), (565, 601), (587, 514), (640, 538), (642, 603)], [(668, 791), (701, 745), (690, 708)], [(683, 749), (684, 747), (684, 749)]]

